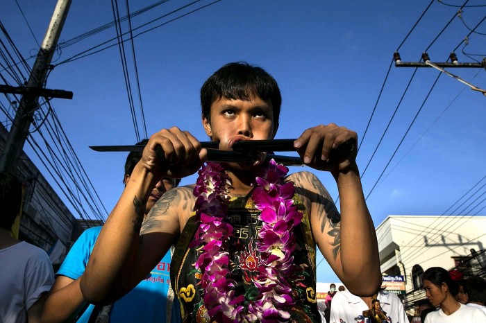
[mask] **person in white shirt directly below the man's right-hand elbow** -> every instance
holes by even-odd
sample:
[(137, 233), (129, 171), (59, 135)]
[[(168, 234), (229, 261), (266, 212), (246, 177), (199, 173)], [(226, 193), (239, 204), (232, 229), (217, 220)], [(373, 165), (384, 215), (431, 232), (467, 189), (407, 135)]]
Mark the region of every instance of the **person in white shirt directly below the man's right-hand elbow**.
[(386, 290), (379, 290), (376, 297), (359, 297), (347, 290), (337, 293), (333, 297), (333, 306), (330, 308), (329, 323), (360, 323), (367, 322), (363, 311), (371, 308), (374, 299), (380, 301), (389, 323), (408, 323), (403, 304), (398, 296)]

